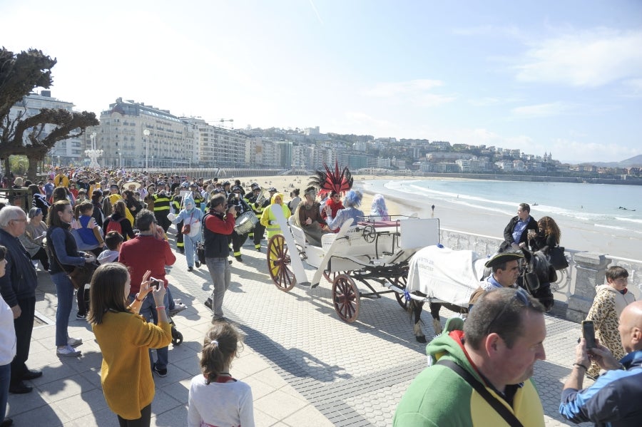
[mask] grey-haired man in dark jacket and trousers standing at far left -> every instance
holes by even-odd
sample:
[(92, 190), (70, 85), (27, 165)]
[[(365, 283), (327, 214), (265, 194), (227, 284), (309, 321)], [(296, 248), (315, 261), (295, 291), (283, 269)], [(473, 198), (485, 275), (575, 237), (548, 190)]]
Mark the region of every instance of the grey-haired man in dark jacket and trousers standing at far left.
[(38, 277), (31, 257), (20, 244), (18, 237), (26, 228), (26, 215), (21, 208), (6, 206), (0, 210), (0, 245), (6, 247), (5, 274), (0, 277), (0, 293), (11, 307), (16, 330), (16, 357), (11, 361), (10, 393), (29, 393), (33, 388), (24, 384), (42, 376), (42, 371), (28, 369), (31, 331), (36, 312), (36, 287)]

